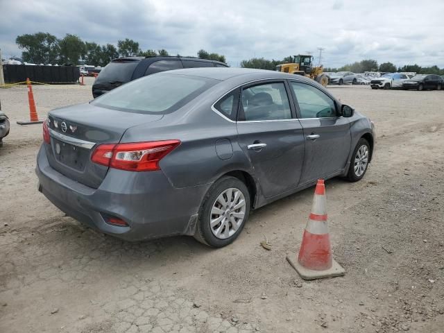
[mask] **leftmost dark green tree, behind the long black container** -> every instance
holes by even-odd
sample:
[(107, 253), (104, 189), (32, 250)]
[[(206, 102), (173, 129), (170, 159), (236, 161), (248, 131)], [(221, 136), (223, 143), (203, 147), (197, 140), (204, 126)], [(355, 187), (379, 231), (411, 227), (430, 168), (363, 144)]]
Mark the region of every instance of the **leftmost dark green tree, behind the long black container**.
[(57, 37), (50, 33), (19, 35), (15, 39), (22, 51), (22, 60), (35, 64), (55, 64), (58, 60), (59, 44)]

